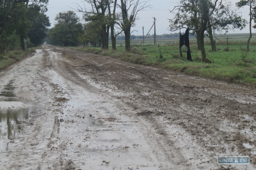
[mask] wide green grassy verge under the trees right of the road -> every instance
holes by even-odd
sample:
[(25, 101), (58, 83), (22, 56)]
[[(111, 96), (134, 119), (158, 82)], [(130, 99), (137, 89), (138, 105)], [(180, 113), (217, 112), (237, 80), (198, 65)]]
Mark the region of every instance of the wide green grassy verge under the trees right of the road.
[[(246, 45), (243, 43), (234, 43), (229, 46), (226, 52), (226, 45), (219, 44), (218, 51), (212, 52), (211, 46), (206, 45), (206, 56), (212, 63), (204, 63), (201, 61), (201, 51), (197, 50), (195, 43), (191, 44), (191, 55), (194, 62), (188, 61), (186, 58), (179, 57), (179, 46), (177, 43), (163, 44), (160, 46), (162, 58), (160, 58), (159, 47), (146, 45), (133, 45), (131, 52), (125, 52), (124, 47), (117, 47), (116, 51), (104, 51), (95, 47), (70, 47), (75, 50), (100, 55), (108, 55), (118, 57), (121, 60), (143, 64), (147, 66), (162, 67), (176, 72), (182, 72), (188, 75), (196, 75), (215, 80), (227, 82), (246, 82), (256, 84), (256, 46), (251, 45), (251, 52), (246, 53)], [(182, 47), (183, 55), (187, 56), (187, 47)], [(175, 56), (178, 56), (175, 57)]]

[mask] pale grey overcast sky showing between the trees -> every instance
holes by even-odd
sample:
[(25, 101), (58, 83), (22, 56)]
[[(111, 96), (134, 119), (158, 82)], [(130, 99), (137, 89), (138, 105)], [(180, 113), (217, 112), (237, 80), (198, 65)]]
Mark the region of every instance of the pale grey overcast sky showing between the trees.
[[(120, 0), (117, 0), (117, 2)], [(235, 3), (239, 0), (231, 0), (233, 9), (236, 9)], [(169, 26), (168, 18), (173, 18), (173, 14), (170, 13), (169, 10), (172, 10), (173, 7), (177, 4), (177, 0), (151, 0), (148, 2), (148, 5), (152, 5), (152, 8), (145, 9), (145, 11), (139, 12), (139, 20), (136, 21), (136, 26), (132, 28), (132, 30), (137, 30), (138, 32), (133, 32), (134, 35), (142, 35), (142, 26), (144, 26), (144, 34), (146, 34), (151, 26), (153, 25), (153, 17), (156, 17), (156, 34), (167, 34), (173, 33), (167, 30)], [(77, 4), (81, 7), (84, 7), (84, 2), (81, 0), (49, 0), (48, 11), (46, 14), (50, 17), (50, 22), (52, 24), (51, 27), (54, 26), (56, 14), (62, 11), (68, 11), (77, 9)], [(86, 4), (86, 8), (90, 7)], [(70, 8), (71, 7), (71, 8)], [(241, 12), (243, 18), (246, 20), (249, 19), (249, 8), (245, 7), (238, 11)], [(73, 10), (74, 11), (74, 10)], [(82, 13), (76, 12), (76, 14), (82, 19)], [(83, 22), (83, 21), (81, 21)], [(185, 31), (185, 29), (183, 30)], [(235, 30), (235, 32), (230, 31), (229, 33), (247, 33), (249, 32), (249, 26), (244, 28), (242, 31)], [(252, 28), (252, 32), (256, 32), (255, 29)], [(150, 34), (154, 33), (154, 30), (149, 32)]]

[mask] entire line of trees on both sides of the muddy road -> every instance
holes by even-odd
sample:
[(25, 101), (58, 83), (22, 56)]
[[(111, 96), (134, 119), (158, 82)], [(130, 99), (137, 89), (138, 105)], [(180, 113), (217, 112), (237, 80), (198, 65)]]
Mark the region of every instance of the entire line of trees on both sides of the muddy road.
[[(54, 25), (48, 32), (47, 41), (60, 46), (88, 46), (101, 47), (108, 50), (108, 41), (111, 39), (112, 49), (116, 50), (116, 40), (125, 40), (125, 50), (130, 51), (131, 39), (142, 38), (133, 36), (132, 26), (138, 19), (138, 13), (150, 8), (148, 1), (143, 0), (85, 0), (85, 7), (77, 4), (75, 11), (82, 12), (85, 24), (74, 11), (60, 12)], [(30, 39), (35, 46), (42, 43), (49, 18), (44, 14), (47, 11), (48, 0), (0, 0), (0, 53), (10, 49), (18, 41), (24, 50), (24, 39)], [(196, 36), (198, 50), (201, 50), (202, 59), (207, 61), (204, 49), (204, 37), (211, 40), (212, 51), (216, 51), (216, 32), (225, 34), (229, 30), (243, 29), (248, 22), (239, 13), (231, 8), (228, 0), (179, 0), (170, 10), (173, 18), (169, 19), (170, 31), (189, 28), (190, 34)], [(247, 51), (252, 37), (252, 21), (255, 21), (255, 0), (240, 0), (236, 7), (248, 6), (250, 37), (247, 42)], [(119, 36), (119, 34), (124, 36)], [(164, 34), (168, 37), (176, 34)], [(158, 36), (160, 38), (161, 36)], [(149, 36), (149, 38), (151, 38)]]

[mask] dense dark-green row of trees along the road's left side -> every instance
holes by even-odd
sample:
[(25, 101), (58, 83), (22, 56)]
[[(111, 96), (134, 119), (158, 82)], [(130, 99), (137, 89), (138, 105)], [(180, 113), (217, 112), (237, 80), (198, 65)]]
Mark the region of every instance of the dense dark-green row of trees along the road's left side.
[(20, 44), (25, 50), (24, 39), (38, 46), (47, 36), (50, 26), (48, 0), (0, 0), (0, 54)]

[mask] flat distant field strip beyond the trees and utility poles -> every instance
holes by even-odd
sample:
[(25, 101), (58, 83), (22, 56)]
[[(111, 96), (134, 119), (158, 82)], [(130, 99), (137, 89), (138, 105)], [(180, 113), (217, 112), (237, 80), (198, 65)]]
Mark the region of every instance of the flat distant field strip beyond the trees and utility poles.
[[(247, 41), (247, 39), (249, 38), (249, 33), (241, 33), (241, 34), (226, 34), (223, 35), (224, 37), (222, 37), (220, 34), (216, 34), (216, 38), (214, 37), (214, 39), (217, 41), (226, 41), (227, 37), (228, 40), (230, 42), (232, 41)], [(219, 40), (218, 40), (219, 39)], [(190, 41), (196, 41), (196, 37), (189, 37)], [(210, 39), (208, 37), (206, 37), (205, 42), (210, 41)], [(141, 42), (143, 41), (143, 39), (132, 39), (131, 40), (131, 44), (141, 44)], [(156, 43), (157, 44), (164, 44), (166, 42), (178, 42), (179, 41), (179, 37), (174, 37), (174, 38), (160, 38), (160, 39), (156, 39)], [(219, 42), (220, 42), (219, 41)], [(256, 41), (256, 33), (252, 33), (252, 39), (251, 41)], [(117, 46), (120, 46), (119, 44), (124, 44), (124, 40), (117, 40), (116, 41)], [(148, 45), (148, 44), (153, 44), (154, 45), (154, 39), (145, 39), (144, 41), (144, 45)], [(109, 45), (111, 46), (111, 41), (109, 41)], [(143, 45), (143, 43), (142, 43)]]

